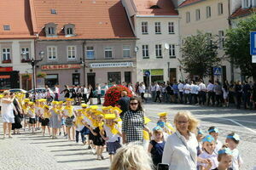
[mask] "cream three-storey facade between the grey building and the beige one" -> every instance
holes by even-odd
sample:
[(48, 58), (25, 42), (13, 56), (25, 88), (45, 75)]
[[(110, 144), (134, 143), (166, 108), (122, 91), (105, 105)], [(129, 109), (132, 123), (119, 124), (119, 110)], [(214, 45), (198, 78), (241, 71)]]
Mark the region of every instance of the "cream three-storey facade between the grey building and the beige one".
[[(148, 21), (148, 34), (142, 33), (142, 22)], [(154, 22), (160, 22), (161, 34), (155, 34)], [(168, 33), (168, 22), (174, 22), (174, 34)], [(143, 82), (143, 70), (151, 69), (163, 69), (164, 79), (163, 81), (169, 81), (168, 62), (169, 68), (176, 68), (177, 79), (181, 78), (179, 72), (179, 28), (178, 17), (137, 17), (136, 18), (136, 34), (137, 34), (137, 81)], [(170, 58), (169, 50), (165, 48), (165, 44), (175, 44), (176, 58)], [(162, 46), (162, 58), (156, 58), (155, 45), (161, 44)], [(143, 45), (148, 45), (149, 59), (143, 59)], [(151, 82), (151, 79), (149, 80)]]

